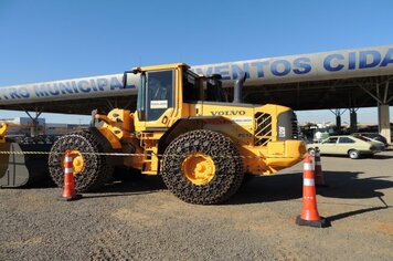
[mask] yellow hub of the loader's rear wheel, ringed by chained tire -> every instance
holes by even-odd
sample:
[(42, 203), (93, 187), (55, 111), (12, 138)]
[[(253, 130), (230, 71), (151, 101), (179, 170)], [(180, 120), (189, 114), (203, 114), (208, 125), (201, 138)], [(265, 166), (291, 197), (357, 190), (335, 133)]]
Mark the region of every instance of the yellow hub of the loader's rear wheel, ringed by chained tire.
[(195, 153), (185, 157), (181, 165), (181, 170), (192, 184), (205, 185), (213, 179), (215, 166), (210, 156)]

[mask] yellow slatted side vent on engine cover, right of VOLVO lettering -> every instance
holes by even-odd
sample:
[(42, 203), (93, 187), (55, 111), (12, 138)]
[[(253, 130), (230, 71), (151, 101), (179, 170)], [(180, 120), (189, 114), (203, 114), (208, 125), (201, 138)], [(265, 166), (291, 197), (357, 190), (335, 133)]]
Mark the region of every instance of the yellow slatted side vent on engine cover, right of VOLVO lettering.
[(255, 146), (266, 146), (272, 142), (272, 116), (267, 113), (255, 114)]

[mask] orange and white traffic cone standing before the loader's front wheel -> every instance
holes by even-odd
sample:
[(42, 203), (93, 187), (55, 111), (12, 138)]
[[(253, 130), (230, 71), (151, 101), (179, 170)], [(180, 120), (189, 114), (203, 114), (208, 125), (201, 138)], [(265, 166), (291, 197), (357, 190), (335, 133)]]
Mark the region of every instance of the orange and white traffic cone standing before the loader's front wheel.
[(65, 152), (64, 157), (64, 189), (62, 200), (72, 201), (81, 199), (82, 195), (76, 194), (74, 180), (73, 157), (70, 150)]

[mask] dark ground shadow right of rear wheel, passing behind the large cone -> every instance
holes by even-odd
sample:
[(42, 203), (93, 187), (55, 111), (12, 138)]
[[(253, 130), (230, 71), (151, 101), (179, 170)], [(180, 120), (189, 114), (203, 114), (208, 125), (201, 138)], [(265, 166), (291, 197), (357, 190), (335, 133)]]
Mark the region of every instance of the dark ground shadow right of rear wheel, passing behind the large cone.
[[(393, 181), (383, 179), (390, 176), (361, 178), (360, 171), (323, 171), (328, 187), (317, 188), (317, 194), (327, 198), (365, 199), (384, 196), (378, 191), (393, 187)], [(243, 185), (230, 199), (229, 205), (270, 202), (301, 199), (302, 174), (285, 174), (255, 177)]]

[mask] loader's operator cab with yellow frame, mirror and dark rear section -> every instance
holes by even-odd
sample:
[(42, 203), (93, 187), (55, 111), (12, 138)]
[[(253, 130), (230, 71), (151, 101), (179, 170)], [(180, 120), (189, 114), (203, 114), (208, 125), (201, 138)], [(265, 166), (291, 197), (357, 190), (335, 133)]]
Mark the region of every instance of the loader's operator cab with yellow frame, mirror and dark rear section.
[[(158, 121), (177, 104), (177, 82), (182, 83), (182, 103), (227, 102), (222, 88), (221, 75), (198, 75), (187, 64), (136, 67), (124, 73), (124, 87), (127, 75), (139, 74), (137, 113), (140, 122)], [(181, 77), (180, 77), (181, 75)]]

